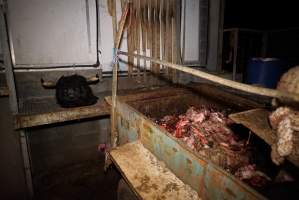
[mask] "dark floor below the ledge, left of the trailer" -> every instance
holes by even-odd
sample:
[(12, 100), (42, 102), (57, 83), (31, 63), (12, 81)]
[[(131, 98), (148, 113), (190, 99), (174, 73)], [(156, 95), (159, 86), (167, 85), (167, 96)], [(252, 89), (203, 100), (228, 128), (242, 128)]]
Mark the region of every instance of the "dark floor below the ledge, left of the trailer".
[(51, 170), (35, 181), (35, 197), (40, 200), (117, 199), (118, 172), (104, 173), (104, 157)]

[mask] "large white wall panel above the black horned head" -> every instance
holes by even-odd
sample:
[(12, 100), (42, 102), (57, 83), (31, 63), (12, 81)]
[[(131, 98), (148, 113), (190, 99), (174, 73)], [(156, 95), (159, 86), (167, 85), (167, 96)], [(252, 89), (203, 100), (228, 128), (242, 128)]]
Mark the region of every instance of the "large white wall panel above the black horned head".
[(16, 67), (97, 62), (94, 0), (10, 0)]

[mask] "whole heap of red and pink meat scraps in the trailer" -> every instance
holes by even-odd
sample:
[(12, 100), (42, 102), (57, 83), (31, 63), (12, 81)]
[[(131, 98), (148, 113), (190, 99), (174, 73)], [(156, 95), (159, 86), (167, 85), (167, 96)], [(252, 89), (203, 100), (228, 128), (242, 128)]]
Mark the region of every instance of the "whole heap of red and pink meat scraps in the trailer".
[[(182, 115), (166, 115), (156, 122), (191, 149), (203, 156), (209, 155), (210, 160), (240, 180), (257, 187), (268, 181), (249, 162), (245, 141), (240, 140), (229, 128), (233, 122), (224, 113), (206, 107), (190, 107)], [(216, 152), (218, 155), (210, 156), (207, 152)], [(223, 160), (225, 162), (221, 162)]]

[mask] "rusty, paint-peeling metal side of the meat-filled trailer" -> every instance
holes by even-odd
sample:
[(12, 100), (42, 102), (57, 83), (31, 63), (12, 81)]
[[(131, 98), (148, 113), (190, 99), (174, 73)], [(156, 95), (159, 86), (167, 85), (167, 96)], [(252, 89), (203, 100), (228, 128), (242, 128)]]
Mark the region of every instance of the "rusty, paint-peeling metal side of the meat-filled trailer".
[[(174, 98), (173, 102), (178, 102), (179, 99), (196, 102), (197, 98), (195, 96), (193, 98), (192, 96), (184, 97), (186, 96), (169, 98)], [(138, 106), (137, 102), (130, 102), (134, 108), (119, 100), (117, 102), (117, 118), (120, 143), (140, 140), (159, 160), (165, 162), (177, 177), (195, 189), (204, 199), (263, 199), (264, 197), (255, 190), (189, 149), (184, 143), (160, 129), (142, 114), (146, 110), (142, 110), (142, 107), (150, 109), (157, 106), (159, 102), (162, 106), (171, 103), (166, 99), (166, 97), (162, 100), (157, 98), (155, 103), (152, 101), (152, 105), (147, 105), (151, 100), (141, 101), (139, 104), (141, 106)], [(216, 101), (199, 97), (197, 103), (203, 102), (217, 105)], [(180, 102), (180, 104), (182, 103)], [(171, 112), (176, 106), (168, 105), (168, 111)], [(142, 113), (136, 108), (141, 109)], [(159, 109), (152, 108), (149, 112), (156, 112), (157, 115)]]

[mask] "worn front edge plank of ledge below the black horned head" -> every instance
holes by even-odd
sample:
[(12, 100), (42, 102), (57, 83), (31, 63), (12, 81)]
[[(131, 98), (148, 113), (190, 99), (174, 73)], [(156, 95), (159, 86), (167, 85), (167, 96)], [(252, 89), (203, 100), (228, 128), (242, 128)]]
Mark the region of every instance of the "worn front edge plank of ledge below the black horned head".
[(92, 106), (67, 108), (61, 111), (32, 115), (19, 114), (15, 115), (15, 129), (30, 128), (79, 119), (109, 116), (110, 111), (110, 105), (106, 103), (106, 101), (102, 100)]

